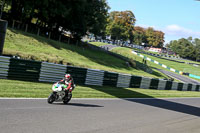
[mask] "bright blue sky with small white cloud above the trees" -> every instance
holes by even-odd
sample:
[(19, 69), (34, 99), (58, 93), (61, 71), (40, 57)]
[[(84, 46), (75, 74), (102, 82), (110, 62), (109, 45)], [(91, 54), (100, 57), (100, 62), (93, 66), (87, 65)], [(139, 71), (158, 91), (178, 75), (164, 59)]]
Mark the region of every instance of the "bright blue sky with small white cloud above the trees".
[(153, 27), (165, 33), (165, 44), (180, 38), (200, 38), (200, 1), (107, 0), (111, 11), (131, 10), (135, 26)]

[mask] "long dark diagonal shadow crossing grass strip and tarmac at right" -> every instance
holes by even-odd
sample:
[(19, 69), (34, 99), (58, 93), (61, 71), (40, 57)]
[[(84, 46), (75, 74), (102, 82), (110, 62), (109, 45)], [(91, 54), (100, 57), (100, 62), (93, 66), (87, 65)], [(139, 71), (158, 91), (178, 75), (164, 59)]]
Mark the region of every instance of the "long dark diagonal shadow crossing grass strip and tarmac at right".
[[(124, 99), (130, 102), (136, 102), (144, 105), (149, 105), (161, 109), (166, 109), (170, 111), (175, 111), (179, 113), (185, 113), (189, 115), (194, 115), (200, 117), (200, 108), (191, 106), (191, 105), (186, 105), (182, 103), (177, 103), (173, 101), (168, 101), (164, 99), (157, 99), (152, 96), (142, 94), (136, 91), (128, 90), (125, 88), (114, 88), (114, 87), (97, 87), (97, 86), (90, 86), (94, 90), (98, 90), (104, 93), (107, 93), (109, 95), (112, 95), (117, 98), (128, 98)], [(135, 98), (135, 99), (131, 99)], [(148, 99), (137, 99), (137, 98), (148, 98)], [(152, 98), (152, 99), (149, 99)]]

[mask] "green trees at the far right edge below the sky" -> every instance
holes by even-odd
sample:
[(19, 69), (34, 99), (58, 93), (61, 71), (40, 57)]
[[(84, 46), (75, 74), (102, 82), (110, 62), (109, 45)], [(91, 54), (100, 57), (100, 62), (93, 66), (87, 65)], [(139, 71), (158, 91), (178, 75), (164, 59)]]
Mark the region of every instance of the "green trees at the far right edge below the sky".
[(200, 39), (198, 38), (189, 37), (173, 40), (167, 44), (167, 47), (182, 58), (200, 60)]

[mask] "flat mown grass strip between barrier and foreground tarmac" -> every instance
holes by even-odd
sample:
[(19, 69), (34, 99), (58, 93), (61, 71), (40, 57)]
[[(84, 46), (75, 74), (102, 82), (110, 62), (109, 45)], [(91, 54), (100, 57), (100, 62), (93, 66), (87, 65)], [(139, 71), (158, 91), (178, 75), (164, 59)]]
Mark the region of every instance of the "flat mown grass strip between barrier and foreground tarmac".
[[(51, 93), (50, 83), (0, 79), (0, 97), (47, 98)], [(77, 86), (73, 98), (170, 98), (200, 97), (200, 92)]]

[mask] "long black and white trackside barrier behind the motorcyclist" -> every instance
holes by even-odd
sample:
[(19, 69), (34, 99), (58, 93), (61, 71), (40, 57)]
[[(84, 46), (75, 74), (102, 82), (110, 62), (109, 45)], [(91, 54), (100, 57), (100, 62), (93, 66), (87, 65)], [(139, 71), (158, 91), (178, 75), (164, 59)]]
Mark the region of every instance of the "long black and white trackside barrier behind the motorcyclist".
[(78, 85), (200, 91), (200, 85), (0, 56), (0, 78), (57, 82), (70, 73)]

